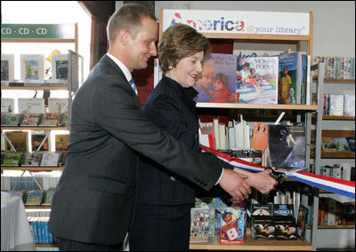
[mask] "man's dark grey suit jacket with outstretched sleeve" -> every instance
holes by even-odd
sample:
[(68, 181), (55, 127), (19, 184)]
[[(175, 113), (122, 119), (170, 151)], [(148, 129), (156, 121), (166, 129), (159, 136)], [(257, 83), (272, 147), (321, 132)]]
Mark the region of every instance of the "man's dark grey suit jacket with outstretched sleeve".
[(62, 239), (117, 244), (134, 213), (138, 154), (210, 189), (222, 167), (191, 152), (142, 114), (125, 75), (101, 58), (77, 91), (69, 125), (69, 151), (49, 230)]

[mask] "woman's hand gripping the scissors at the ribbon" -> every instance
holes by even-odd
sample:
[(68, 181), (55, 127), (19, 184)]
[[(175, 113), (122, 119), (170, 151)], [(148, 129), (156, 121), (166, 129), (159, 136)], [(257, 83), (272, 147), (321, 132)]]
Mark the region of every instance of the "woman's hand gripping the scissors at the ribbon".
[(261, 172), (253, 173), (248, 172), (243, 169), (235, 168), (233, 169), (235, 172), (239, 174), (246, 175), (247, 178), (245, 179), (247, 184), (255, 187), (260, 193), (268, 194), (273, 190), (274, 186), (278, 185), (278, 181), (271, 177), (272, 170), (265, 169)]

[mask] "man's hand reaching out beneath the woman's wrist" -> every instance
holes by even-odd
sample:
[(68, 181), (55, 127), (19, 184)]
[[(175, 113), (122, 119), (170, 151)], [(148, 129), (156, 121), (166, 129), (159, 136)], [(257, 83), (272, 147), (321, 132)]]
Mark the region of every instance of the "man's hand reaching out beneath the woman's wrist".
[(220, 179), (219, 185), (232, 198), (237, 201), (243, 201), (248, 198), (248, 194), (251, 193), (251, 187), (247, 185), (247, 175), (237, 173), (231, 169), (223, 170), (223, 177)]

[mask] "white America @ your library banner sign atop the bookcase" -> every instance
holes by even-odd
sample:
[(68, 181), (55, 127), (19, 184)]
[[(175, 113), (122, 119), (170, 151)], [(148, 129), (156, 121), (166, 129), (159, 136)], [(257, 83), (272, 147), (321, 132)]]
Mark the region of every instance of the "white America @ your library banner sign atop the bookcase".
[(310, 14), (163, 10), (162, 30), (186, 24), (204, 34), (309, 35)]

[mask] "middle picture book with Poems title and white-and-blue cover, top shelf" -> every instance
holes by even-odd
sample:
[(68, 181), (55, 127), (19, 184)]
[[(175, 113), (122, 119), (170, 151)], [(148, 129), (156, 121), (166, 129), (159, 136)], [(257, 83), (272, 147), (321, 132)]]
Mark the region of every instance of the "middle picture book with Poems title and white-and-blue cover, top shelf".
[(278, 72), (278, 57), (238, 58), (237, 102), (277, 104)]

